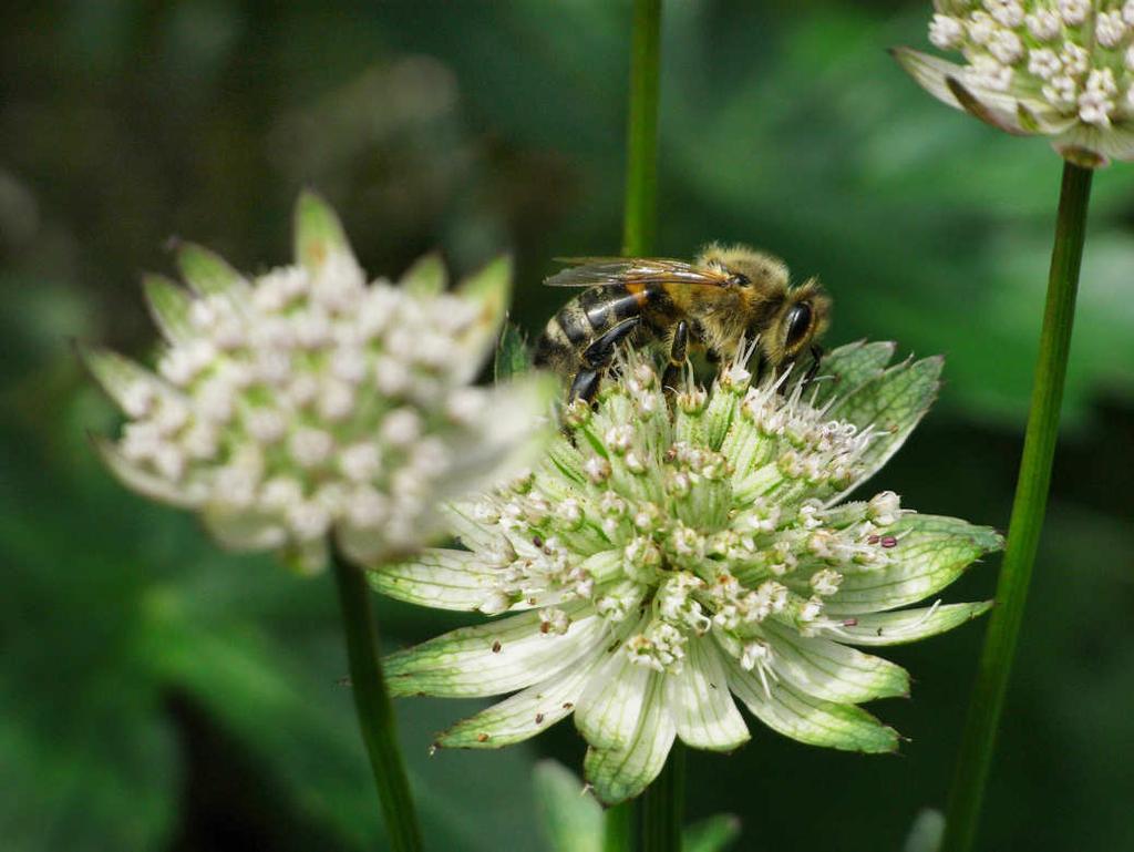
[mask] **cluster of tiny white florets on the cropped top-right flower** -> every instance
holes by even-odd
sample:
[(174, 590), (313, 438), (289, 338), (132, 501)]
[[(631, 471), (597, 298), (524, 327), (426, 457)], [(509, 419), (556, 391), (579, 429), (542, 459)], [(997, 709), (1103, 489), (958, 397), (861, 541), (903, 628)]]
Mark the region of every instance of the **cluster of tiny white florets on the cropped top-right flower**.
[(929, 37), (965, 81), (1041, 96), (1095, 127), (1134, 115), (1134, 0), (939, 0)]

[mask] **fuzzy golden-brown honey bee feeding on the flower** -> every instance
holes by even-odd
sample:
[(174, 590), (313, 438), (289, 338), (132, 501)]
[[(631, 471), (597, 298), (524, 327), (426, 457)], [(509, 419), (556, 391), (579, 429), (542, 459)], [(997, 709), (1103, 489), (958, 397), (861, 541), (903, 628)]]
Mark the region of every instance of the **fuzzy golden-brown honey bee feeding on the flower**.
[(805, 352), (818, 369), (815, 340), (831, 300), (814, 278), (789, 286), (781, 260), (746, 246), (709, 245), (692, 262), (653, 258), (581, 258), (548, 278), (552, 287), (586, 287), (552, 317), (535, 345), (535, 364), (570, 379), (568, 398), (594, 398), (617, 345), (663, 344), (662, 377), (675, 388), (689, 349), (728, 362), (755, 340), (759, 369), (781, 369)]

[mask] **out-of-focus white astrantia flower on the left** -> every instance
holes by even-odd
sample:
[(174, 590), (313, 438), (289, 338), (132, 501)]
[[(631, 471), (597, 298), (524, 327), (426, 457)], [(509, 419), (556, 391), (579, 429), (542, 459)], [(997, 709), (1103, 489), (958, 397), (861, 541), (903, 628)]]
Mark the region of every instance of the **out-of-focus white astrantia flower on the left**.
[(443, 530), (439, 503), (531, 461), (553, 385), (469, 385), (503, 321), (506, 260), (452, 289), (435, 258), (400, 286), (367, 284), (310, 193), (295, 242), (296, 265), (253, 279), (184, 245), (189, 289), (145, 281), (156, 373), (82, 353), (127, 416), (98, 447), (128, 487), (200, 512), (235, 549), (316, 571), (333, 532), (355, 560), (404, 558)]

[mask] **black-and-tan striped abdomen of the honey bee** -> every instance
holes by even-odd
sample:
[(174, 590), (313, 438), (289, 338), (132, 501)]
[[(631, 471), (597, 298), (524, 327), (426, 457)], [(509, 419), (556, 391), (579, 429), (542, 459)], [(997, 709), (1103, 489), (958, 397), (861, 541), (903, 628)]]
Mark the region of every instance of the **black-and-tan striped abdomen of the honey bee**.
[(666, 329), (669, 300), (653, 284), (608, 284), (591, 287), (548, 320), (535, 344), (536, 366), (572, 376), (583, 365), (583, 352), (604, 331), (633, 317), (642, 323), (629, 337), (632, 345), (655, 339)]

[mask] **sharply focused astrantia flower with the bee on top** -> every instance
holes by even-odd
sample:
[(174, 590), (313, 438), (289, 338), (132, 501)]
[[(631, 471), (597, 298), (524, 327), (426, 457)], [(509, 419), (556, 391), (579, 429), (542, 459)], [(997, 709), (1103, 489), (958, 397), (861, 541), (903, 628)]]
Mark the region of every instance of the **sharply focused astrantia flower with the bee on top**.
[(824, 360), (806, 391), (750, 387), (741, 363), (672, 406), (629, 354), (598, 406), (567, 410), (532, 472), (452, 507), (467, 550), (371, 575), (392, 597), (508, 615), (391, 655), (393, 694), (515, 693), (445, 732), (497, 748), (574, 714), (587, 782), (637, 795), (675, 736), (731, 751), (769, 727), (816, 745), (892, 751), (856, 705), (905, 695), (898, 666), (853, 646), (909, 642), (989, 604), (902, 609), (1000, 547), (992, 530), (848, 491), (897, 450), (937, 393), (939, 358), (887, 369), (892, 345)]

